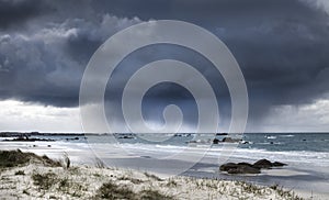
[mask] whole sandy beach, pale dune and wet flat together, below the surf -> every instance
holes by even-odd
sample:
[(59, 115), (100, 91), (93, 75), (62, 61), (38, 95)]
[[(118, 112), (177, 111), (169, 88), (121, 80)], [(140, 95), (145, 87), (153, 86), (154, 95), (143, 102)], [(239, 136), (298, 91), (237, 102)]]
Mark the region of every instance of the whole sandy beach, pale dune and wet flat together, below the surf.
[[(309, 167), (307, 163), (300, 165), (299, 163), (285, 160), (288, 164), (287, 166), (263, 169), (258, 175), (228, 175), (218, 170), (219, 165), (215, 148), (185, 173), (179, 176), (169, 176), (166, 173), (172, 173), (185, 165), (190, 165), (189, 158), (173, 160), (136, 156), (134, 154), (123, 156), (118, 151), (105, 148), (102, 145), (98, 147), (106, 149), (104, 152), (106, 154), (103, 155), (104, 157), (101, 157), (101, 160), (107, 163), (103, 163), (101, 167), (99, 166), (100, 160), (95, 158), (95, 155), (86, 143), (58, 141), (33, 143), (1, 142), (1, 151), (21, 149), (24, 153), (32, 152), (38, 156), (47, 155), (54, 160), (63, 160), (65, 153), (71, 163), (71, 167), (68, 169), (44, 166), (33, 162), (25, 166), (5, 169), (1, 173), (0, 179), (2, 186), (1, 197), (5, 197), (5, 199), (49, 199), (50, 197), (55, 199), (91, 199), (95, 198), (98, 190), (103, 184), (111, 180), (120, 187), (128, 187), (134, 193), (140, 193), (144, 189), (151, 188), (162, 195), (174, 197), (174, 199), (292, 199), (280, 196), (279, 191), (294, 192), (298, 197), (303, 197), (303, 199), (329, 199), (329, 193), (326, 193), (326, 188), (328, 187), (326, 181), (327, 169), (317, 165)], [(149, 155), (154, 153), (152, 149), (145, 149), (140, 145), (128, 145), (126, 147), (131, 152), (146, 151)], [(159, 146), (154, 155), (164, 154), (167, 148)], [(172, 146), (169, 147), (169, 149), (172, 148)], [(237, 149), (235, 155), (227, 162), (253, 163), (259, 158), (271, 157), (268, 155), (268, 152), (241, 157), (245, 155), (241, 151)], [(107, 159), (109, 155), (111, 155), (111, 159)], [(18, 171), (24, 171), (24, 175), (15, 175)], [(55, 174), (53, 176), (56, 177), (54, 187), (41, 190), (38, 186), (35, 186), (32, 177), (35, 174), (44, 176), (49, 171)], [(145, 174), (146, 171), (148, 175), (155, 175), (158, 178), (149, 178)], [(129, 179), (133, 179), (133, 182)], [(136, 185), (135, 180), (137, 179), (143, 181), (138, 181), (138, 185)], [(59, 187), (58, 182), (61, 180), (71, 182), (65, 189), (68, 193), (63, 192), (63, 188)], [(174, 181), (174, 185), (180, 187), (169, 187), (170, 184), (168, 185), (168, 182), (170, 181)], [(271, 189), (273, 186), (279, 191)], [(79, 191), (80, 198), (75, 197), (75, 191), (71, 191), (76, 190), (76, 187), (82, 190)], [(250, 191), (251, 188), (254, 191)], [(250, 192), (252, 196), (249, 195)]]

